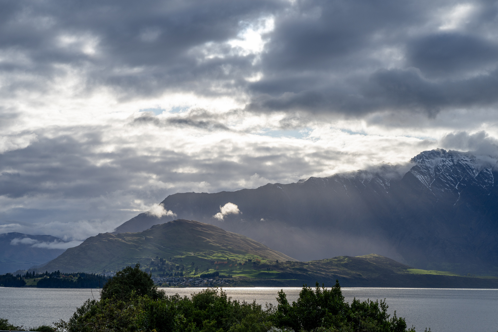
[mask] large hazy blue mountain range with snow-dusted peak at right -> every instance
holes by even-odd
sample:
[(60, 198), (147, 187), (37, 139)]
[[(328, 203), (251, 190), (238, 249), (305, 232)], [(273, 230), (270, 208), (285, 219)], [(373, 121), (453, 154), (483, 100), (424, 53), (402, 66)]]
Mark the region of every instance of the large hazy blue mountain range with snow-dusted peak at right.
[[(161, 205), (302, 261), (376, 252), (421, 269), (498, 275), (496, 162), (436, 149), (405, 169), (384, 165), (235, 192), (178, 193)], [(216, 218), (229, 202), (240, 213)], [(143, 213), (116, 233), (168, 220)]]

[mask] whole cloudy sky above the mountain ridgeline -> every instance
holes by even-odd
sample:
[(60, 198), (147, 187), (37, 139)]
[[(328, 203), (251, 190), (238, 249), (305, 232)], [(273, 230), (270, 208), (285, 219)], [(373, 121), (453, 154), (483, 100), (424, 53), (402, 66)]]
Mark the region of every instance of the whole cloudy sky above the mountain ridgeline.
[(496, 1), (2, 1), (0, 233), (81, 241), (177, 192), (434, 148), (496, 155), (497, 14)]

